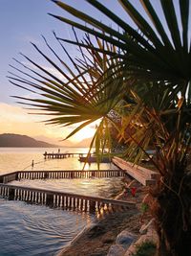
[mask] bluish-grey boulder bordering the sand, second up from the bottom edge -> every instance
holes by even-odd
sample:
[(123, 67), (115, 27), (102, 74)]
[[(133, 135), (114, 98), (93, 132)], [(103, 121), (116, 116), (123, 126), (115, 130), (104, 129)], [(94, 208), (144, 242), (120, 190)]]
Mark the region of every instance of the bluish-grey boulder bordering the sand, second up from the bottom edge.
[(123, 230), (117, 235), (116, 244), (120, 244), (124, 249), (127, 249), (135, 240), (136, 236), (127, 230)]

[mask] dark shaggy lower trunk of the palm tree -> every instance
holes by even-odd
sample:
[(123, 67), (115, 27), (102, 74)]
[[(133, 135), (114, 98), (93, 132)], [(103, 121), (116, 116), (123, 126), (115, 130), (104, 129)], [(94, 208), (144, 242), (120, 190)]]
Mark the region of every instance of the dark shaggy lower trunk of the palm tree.
[(191, 175), (184, 174), (180, 190), (177, 189), (182, 180), (180, 175), (166, 180), (171, 180), (171, 187), (160, 181), (153, 194), (159, 235), (156, 256), (188, 256), (191, 255)]

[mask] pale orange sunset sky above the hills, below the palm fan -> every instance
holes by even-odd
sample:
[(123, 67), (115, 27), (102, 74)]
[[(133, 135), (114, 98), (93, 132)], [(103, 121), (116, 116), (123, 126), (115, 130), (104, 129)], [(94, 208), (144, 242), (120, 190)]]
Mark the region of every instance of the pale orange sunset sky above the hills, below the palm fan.
[[(43, 140), (44, 138), (49, 143), (57, 144), (74, 130), (74, 128), (70, 127), (60, 128), (58, 126), (45, 125), (45, 123), (40, 122), (43, 119), (42, 116), (28, 114), (28, 110), (20, 106), (0, 104), (0, 133), (16, 133), (34, 138), (39, 137), (39, 140)], [(97, 123), (98, 121), (95, 122), (95, 127)], [(69, 141), (78, 143), (84, 139), (93, 137), (95, 131), (94, 124), (82, 128)]]

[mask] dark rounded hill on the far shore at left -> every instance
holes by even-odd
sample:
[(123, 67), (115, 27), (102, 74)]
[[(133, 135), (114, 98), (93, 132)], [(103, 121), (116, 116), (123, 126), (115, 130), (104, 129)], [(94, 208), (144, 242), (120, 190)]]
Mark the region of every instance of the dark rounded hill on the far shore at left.
[(57, 148), (60, 146), (34, 140), (26, 135), (4, 133), (0, 134), (0, 147)]

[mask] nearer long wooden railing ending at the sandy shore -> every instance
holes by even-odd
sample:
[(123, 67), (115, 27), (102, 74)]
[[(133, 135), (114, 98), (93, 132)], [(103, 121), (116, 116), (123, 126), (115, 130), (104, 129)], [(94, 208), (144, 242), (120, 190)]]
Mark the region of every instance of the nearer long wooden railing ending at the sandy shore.
[(23, 200), (51, 207), (61, 207), (63, 209), (79, 210), (84, 212), (96, 212), (101, 208), (115, 209), (116, 207), (122, 207), (123, 209), (132, 209), (136, 207), (134, 202), (82, 196), (73, 193), (42, 190), (8, 184), (0, 184), (0, 196), (10, 200)]

